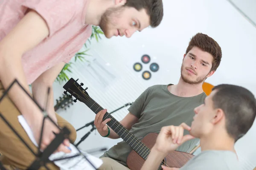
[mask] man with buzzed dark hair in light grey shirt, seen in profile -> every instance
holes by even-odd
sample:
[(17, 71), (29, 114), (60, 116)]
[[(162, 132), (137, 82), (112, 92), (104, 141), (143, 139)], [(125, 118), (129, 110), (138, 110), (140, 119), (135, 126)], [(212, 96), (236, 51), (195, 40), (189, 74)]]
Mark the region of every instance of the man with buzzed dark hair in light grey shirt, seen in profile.
[[(200, 139), (201, 153), (180, 170), (241, 170), (234, 144), (255, 120), (256, 99), (253, 94), (237, 85), (217, 85), (194, 112), (191, 127), (186, 123), (162, 127), (141, 170), (157, 170), (169, 152), (193, 138)], [(189, 134), (184, 135), (185, 131)]]

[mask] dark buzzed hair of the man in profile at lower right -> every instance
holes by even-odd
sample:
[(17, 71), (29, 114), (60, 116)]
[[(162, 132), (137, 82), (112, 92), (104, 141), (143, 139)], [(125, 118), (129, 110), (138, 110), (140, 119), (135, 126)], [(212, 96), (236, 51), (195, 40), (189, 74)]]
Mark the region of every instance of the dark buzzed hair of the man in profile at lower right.
[(237, 141), (252, 127), (256, 116), (254, 95), (241, 86), (222, 84), (212, 88), (213, 107), (221, 108), (226, 117), (227, 133)]

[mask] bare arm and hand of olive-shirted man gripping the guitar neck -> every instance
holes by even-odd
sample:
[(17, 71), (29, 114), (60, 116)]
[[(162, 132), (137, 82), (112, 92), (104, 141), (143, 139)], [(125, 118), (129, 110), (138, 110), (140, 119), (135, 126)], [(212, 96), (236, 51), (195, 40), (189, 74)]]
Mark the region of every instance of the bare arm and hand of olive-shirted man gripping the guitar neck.
[[(107, 122), (109, 122), (111, 119), (105, 119), (104, 121), (102, 121), (103, 116), (105, 115), (105, 113), (107, 112), (107, 110), (102, 110), (99, 111), (99, 113), (96, 114), (95, 116), (95, 120), (94, 120), (94, 125), (96, 126), (99, 134), (101, 136), (106, 136), (108, 134), (108, 126), (106, 125)], [(134, 116), (132, 113), (128, 113), (124, 119), (122, 119), (120, 121), (120, 123), (128, 130), (131, 130), (131, 127), (138, 122), (138, 118), (136, 116)], [(110, 135), (108, 136), (108, 138), (111, 139), (118, 139), (120, 138), (120, 136), (118, 134), (115, 133), (114, 130), (112, 130), (110, 128)]]

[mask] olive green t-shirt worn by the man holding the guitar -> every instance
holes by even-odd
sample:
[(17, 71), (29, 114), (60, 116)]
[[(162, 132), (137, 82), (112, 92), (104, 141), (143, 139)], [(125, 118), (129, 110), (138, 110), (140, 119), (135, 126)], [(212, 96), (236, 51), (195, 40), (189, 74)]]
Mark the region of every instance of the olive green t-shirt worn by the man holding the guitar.
[[(153, 85), (147, 88), (128, 108), (130, 113), (139, 118), (130, 130), (138, 139), (141, 140), (148, 133), (159, 133), (163, 126), (178, 126), (182, 122), (191, 126), (195, 116), (194, 108), (204, 103), (206, 94), (193, 97), (175, 96), (168, 91), (169, 85)], [(184, 135), (188, 133), (187, 130), (184, 131)], [(177, 150), (189, 153), (198, 142), (199, 139), (189, 140)], [(109, 157), (127, 166), (126, 158), (131, 150), (132, 148), (122, 141), (111, 147), (100, 158)]]

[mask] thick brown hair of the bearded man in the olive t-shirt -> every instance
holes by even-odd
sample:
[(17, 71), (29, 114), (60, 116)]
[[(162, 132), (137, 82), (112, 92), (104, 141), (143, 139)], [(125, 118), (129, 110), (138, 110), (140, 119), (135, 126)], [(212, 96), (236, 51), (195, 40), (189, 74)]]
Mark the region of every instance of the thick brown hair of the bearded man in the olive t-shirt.
[(189, 42), (189, 46), (186, 49), (186, 54), (193, 48), (198, 47), (203, 51), (212, 54), (212, 68), (211, 71), (216, 71), (221, 62), (221, 47), (218, 43), (206, 34), (198, 33), (193, 36)]

